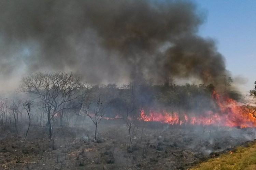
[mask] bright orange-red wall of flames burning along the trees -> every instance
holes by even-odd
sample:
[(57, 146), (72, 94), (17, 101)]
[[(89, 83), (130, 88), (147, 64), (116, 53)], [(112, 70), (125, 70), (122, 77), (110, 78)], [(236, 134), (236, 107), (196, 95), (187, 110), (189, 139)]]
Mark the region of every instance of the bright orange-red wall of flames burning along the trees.
[(144, 109), (140, 113), (140, 119), (144, 121), (158, 121), (168, 124), (193, 124), (193, 125), (221, 125), (230, 127), (254, 127), (256, 126), (256, 118), (248, 110), (248, 107), (242, 105), (236, 100), (228, 97), (221, 97), (216, 91), (213, 91), (212, 98), (217, 104), (218, 112), (207, 111), (199, 116), (191, 113), (168, 113), (166, 111), (156, 112), (150, 110), (145, 114)]

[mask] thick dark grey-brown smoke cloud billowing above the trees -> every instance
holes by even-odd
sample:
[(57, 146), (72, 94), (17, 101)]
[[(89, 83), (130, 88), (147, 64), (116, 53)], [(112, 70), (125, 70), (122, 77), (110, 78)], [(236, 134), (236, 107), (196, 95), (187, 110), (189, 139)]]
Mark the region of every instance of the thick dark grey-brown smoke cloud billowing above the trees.
[[(73, 71), (90, 83), (168, 77), (214, 83), (227, 74), (205, 15), (189, 1), (2, 0), (0, 69)], [(223, 78), (223, 77), (222, 77)]]

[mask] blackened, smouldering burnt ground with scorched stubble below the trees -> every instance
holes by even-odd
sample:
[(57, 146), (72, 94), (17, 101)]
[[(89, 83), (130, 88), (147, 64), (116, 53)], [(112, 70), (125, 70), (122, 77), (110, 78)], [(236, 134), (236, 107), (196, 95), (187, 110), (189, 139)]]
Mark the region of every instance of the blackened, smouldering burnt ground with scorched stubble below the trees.
[(47, 139), (47, 128), (31, 126), (26, 141), (26, 128), (18, 128), (17, 135), (14, 127), (2, 126), (0, 169), (187, 169), (255, 138), (255, 128), (145, 122), (142, 138), (142, 127), (135, 128), (130, 145), (128, 129), (120, 120), (103, 120), (97, 141), (89, 126), (55, 128), (53, 139)]

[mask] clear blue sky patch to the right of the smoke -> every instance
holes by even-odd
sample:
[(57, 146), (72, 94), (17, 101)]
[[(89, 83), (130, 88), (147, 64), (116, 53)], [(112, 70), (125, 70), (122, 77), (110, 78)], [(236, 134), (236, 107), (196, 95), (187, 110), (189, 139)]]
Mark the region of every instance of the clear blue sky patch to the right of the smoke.
[(193, 0), (207, 14), (199, 35), (216, 41), (232, 77), (243, 77), (240, 90), (256, 81), (256, 0)]

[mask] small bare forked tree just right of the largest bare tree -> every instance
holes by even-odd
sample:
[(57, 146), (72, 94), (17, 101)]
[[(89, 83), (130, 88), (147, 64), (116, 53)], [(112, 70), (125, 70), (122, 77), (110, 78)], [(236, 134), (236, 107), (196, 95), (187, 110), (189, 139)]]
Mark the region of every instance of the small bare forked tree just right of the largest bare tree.
[(104, 104), (103, 101), (100, 100), (100, 96), (96, 98), (96, 101), (90, 101), (86, 107), (86, 115), (93, 121), (95, 124), (95, 133), (94, 133), (94, 140), (97, 140), (97, 128), (98, 124), (102, 120), (105, 115), (106, 108), (108, 108), (108, 104)]

